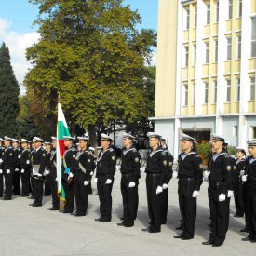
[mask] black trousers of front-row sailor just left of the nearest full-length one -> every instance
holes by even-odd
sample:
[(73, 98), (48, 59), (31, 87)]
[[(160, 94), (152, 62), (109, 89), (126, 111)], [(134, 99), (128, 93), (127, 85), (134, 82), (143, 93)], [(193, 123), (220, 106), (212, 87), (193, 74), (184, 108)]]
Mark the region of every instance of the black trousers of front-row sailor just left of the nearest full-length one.
[(196, 198), (192, 197), (195, 181), (179, 180), (178, 195), (182, 215), (183, 236), (194, 238), (196, 219)]

